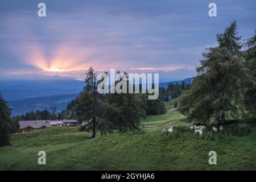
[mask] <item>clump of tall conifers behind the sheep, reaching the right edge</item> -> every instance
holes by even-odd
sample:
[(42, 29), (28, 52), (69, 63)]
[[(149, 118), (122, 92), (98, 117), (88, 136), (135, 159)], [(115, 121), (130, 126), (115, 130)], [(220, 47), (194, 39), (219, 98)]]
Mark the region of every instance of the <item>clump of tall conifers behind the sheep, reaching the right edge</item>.
[(217, 34), (217, 47), (203, 53), (191, 89), (183, 92), (179, 110), (189, 121), (217, 125), (256, 118), (256, 30), (244, 42), (232, 22)]

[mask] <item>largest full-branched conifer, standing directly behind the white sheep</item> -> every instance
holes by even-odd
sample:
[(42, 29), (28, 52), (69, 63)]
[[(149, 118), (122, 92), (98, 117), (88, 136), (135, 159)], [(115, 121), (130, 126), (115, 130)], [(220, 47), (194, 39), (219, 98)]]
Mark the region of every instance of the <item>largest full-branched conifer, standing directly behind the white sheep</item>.
[(179, 110), (189, 120), (207, 123), (214, 117), (217, 123), (224, 123), (245, 111), (243, 96), (250, 76), (239, 56), (240, 39), (236, 22), (232, 22), (224, 33), (217, 34), (218, 47), (203, 53), (198, 75), (179, 101)]

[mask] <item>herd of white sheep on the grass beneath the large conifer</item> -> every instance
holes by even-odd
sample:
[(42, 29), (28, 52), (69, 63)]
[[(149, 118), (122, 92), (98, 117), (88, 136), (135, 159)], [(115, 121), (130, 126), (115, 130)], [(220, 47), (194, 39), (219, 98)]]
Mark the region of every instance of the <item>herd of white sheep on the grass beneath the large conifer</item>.
[[(196, 123), (188, 123), (188, 130), (195, 131), (195, 134), (199, 134), (200, 137), (203, 137), (203, 130), (207, 129), (206, 126), (201, 126), (201, 125), (197, 125)], [(217, 129), (216, 127), (212, 127), (212, 130), (214, 131), (214, 133), (218, 133), (218, 131), (222, 131), (223, 130), (223, 126), (221, 125), (219, 129)], [(162, 133), (174, 133), (174, 129), (172, 128), (172, 126), (170, 127), (170, 129), (163, 129)]]

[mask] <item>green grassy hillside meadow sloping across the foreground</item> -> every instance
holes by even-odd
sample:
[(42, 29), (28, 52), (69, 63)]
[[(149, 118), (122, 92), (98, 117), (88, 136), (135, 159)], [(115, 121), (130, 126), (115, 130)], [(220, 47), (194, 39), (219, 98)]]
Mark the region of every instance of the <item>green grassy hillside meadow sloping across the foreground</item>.
[[(144, 132), (109, 134), (89, 139), (76, 128), (52, 127), (11, 136), (11, 147), (0, 148), (0, 169), (85, 170), (216, 170), (256, 168), (256, 127), (246, 137), (230, 140), (199, 138), (192, 132), (171, 139), (160, 132), (185, 125), (183, 117), (166, 104), (168, 112), (143, 120)], [(38, 165), (38, 151), (47, 165)], [(208, 152), (217, 152), (217, 165), (208, 164)]]

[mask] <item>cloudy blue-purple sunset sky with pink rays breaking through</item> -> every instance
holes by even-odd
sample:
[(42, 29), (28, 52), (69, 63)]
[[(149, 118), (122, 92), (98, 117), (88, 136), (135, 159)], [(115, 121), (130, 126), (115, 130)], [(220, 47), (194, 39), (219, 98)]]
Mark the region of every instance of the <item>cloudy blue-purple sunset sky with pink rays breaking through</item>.
[[(40, 2), (46, 17), (38, 16)], [(160, 82), (193, 77), (201, 53), (233, 20), (242, 39), (254, 35), (255, 7), (254, 0), (1, 0), (0, 79), (83, 80), (90, 66), (159, 73)]]

